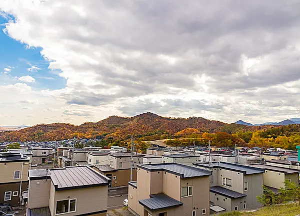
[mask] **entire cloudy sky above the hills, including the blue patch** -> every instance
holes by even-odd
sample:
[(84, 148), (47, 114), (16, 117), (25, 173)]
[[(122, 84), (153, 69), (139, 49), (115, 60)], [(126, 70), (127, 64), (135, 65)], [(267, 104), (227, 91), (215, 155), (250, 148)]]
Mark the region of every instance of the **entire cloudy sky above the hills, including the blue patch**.
[(300, 1), (0, 0), (0, 125), (300, 117)]

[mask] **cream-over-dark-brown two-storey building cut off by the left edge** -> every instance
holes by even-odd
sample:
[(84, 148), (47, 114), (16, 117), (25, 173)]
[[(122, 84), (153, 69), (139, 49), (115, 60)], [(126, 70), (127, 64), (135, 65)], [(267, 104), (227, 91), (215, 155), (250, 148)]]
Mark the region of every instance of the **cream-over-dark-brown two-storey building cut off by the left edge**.
[(0, 153), (0, 204), (21, 205), (28, 186), (29, 161), (19, 153)]

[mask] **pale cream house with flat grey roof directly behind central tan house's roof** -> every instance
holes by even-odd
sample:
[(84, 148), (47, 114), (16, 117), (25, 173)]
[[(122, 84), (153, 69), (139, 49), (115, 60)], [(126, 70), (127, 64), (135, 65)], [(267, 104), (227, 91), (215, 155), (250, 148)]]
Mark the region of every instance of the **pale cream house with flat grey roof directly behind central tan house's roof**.
[(162, 163), (180, 163), (185, 165), (192, 165), (192, 163), (199, 162), (199, 155), (189, 154), (172, 154), (162, 155)]

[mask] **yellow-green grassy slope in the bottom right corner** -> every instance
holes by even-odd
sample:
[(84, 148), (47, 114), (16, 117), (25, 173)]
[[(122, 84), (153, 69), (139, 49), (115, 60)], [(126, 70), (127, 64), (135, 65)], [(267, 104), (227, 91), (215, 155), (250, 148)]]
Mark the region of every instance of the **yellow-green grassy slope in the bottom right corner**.
[(264, 207), (256, 212), (230, 212), (219, 216), (296, 216), (300, 214), (300, 207), (294, 204)]

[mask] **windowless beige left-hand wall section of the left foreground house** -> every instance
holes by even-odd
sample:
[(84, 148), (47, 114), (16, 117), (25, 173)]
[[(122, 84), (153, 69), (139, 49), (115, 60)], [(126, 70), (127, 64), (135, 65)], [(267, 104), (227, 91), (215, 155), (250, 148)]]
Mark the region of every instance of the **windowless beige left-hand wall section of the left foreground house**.
[(42, 208), (49, 206), (51, 179), (31, 180), (28, 189), (28, 209)]

